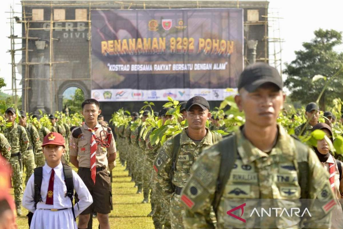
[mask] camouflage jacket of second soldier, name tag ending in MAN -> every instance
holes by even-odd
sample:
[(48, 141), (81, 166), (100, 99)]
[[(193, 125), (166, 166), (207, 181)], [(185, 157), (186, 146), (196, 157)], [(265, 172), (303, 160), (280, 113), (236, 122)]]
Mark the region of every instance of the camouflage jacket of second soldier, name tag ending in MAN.
[(205, 137), (196, 144), (188, 137), (186, 130), (187, 127), (182, 130), (180, 135), (179, 156), (173, 180), (171, 181), (169, 178), (169, 171), (172, 167), (171, 155), (173, 153), (175, 135), (164, 142), (162, 147), (158, 150), (153, 164), (153, 168), (157, 173), (157, 181), (154, 182), (158, 183), (156, 187), (161, 187), (161, 190), (158, 190), (158, 192), (161, 193), (166, 201), (169, 201), (170, 195), (174, 193), (172, 184), (181, 188), (184, 187), (189, 179), (189, 172), (193, 163), (197, 160), (203, 148), (213, 145), (212, 135), (216, 134), (206, 127), (207, 133)]

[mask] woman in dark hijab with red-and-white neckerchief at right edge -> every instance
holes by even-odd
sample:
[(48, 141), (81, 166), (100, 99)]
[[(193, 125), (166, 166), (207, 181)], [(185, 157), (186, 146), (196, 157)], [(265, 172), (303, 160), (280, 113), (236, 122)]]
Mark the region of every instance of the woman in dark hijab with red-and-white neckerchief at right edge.
[[(331, 140), (331, 143), (333, 142), (332, 130), (328, 124), (318, 123), (312, 128), (312, 131), (317, 129), (324, 131)], [(317, 141), (317, 147), (313, 147), (313, 149), (316, 152), (320, 163), (330, 174), (329, 181), (331, 183), (333, 193), (337, 199), (341, 199), (341, 192), (343, 192), (343, 179), (340, 180), (340, 172), (338, 171), (336, 159), (334, 159), (330, 154), (330, 145), (326, 142), (325, 138), (323, 138), (322, 140)], [(338, 206), (337, 209), (333, 210), (331, 223), (331, 228), (342, 228), (343, 211), (341, 206)]]

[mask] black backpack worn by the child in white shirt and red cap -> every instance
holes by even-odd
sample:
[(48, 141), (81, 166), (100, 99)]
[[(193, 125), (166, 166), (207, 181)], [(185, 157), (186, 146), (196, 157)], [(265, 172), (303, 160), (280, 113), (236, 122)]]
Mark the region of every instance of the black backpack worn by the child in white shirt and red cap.
[[(73, 197), (74, 197), (74, 182), (73, 182), (73, 173), (70, 166), (63, 164), (63, 174), (64, 174), (64, 182), (66, 182), (67, 186), (67, 193), (66, 195), (70, 198), (71, 201), (71, 210), (73, 212), (74, 220), (75, 213), (74, 213), (74, 205), (73, 205)], [(42, 196), (40, 195), (40, 188), (42, 187), (42, 180), (43, 180), (43, 167), (37, 167), (34, 169), (34, 202), (35, 208), (37, 204), (42, 201)], [(28, 217), (28, 226), (31, 225), (31, 220), (33, 217), (33, 213), (31, 211), (27, 214)]]

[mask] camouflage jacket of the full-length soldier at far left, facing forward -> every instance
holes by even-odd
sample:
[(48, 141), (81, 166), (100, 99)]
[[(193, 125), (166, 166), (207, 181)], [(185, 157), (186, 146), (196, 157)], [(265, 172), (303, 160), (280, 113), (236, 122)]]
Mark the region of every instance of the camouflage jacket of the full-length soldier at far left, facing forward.
[(24, 127), (14, 123), (12, 127), (6, 128), (3, 135), (7, 138), (11, 153), (25, 152), (28, 147), (28, 137)]

